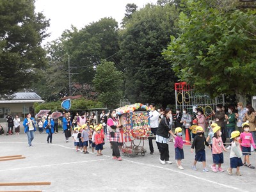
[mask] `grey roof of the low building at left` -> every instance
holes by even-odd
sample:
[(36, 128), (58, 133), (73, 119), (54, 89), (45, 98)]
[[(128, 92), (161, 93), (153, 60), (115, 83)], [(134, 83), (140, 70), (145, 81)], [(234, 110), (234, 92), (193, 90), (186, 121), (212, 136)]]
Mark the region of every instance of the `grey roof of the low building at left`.
[(13, 99), (10, 100), (0, 100), (1, 103), (25, 103), (25, 102), (44, 102), (42, 98), (37, 95), (35, 92), (19, 92), (19, 93), (14, 93)]

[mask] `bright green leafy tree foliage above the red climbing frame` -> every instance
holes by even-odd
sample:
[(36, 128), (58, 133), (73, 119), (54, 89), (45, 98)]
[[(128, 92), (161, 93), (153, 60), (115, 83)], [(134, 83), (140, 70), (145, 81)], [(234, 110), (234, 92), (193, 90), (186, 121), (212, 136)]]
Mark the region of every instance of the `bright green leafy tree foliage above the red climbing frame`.
[(215, 97), (255, 94), (255, 10), (226, 12), (209, 1), (188, 1), (180, 13), (178, 38), (164, 51), (175, 74), (198, 92)]

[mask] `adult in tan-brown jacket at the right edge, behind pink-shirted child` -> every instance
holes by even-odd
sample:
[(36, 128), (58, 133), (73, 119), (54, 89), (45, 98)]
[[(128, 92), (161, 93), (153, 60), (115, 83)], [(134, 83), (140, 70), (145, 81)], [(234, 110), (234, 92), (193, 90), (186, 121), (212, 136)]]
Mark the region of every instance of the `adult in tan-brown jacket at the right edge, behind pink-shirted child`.
[[(252, 106), (248, 106), (248, 108), (246, 108), (246, 110), (248, 109), (247, 113), (245, 113), (244, 115), (244, 122), (247, 122), (250, 126), (250, 130), (249, 132), (252, 133), (252, 138), (253, 138), (253, 143), (256, 143), (256, 113), (254, 112), (254, 109), (252, 108)], [(255, 149), (254, 149), (255, 150)]]

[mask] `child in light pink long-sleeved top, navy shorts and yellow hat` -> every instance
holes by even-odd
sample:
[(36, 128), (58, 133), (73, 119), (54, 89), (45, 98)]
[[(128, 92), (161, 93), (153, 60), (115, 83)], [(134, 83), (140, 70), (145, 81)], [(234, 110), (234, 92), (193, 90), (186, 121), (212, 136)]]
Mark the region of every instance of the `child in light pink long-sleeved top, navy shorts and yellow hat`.
[(216, 164), (218, 164), (218, 172), (224, 172), (224, 170), (221, 168), (221, 163), (224, 163), (224, 157), (222, 148), (224, 151), (227, 151), (227, 149), (224, 147), (222, 139), (221, 139), (221, 127), (216, 126), (212, 130), (214, 133), (214, 136), (212, 138), (212, 159), (213, 164), (211, 166), (212, 172), (217, 172)]

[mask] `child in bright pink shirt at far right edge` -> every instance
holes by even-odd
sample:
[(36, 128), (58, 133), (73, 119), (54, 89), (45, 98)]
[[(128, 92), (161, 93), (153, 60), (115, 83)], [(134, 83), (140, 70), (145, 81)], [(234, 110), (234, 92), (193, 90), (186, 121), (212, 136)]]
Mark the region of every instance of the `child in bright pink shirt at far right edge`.
[(244, 166), (247, 166), (248, 168), (254, 169), (255, 167), (250, 164), (250, 155), (251, 155), (251, 145), (255, 147), (252, 133), (250, 131), (250, 125), (248, 123), (243, 123), (242, 129), (244, 132), (241, 132), (240, 138), (241, 138), (241, 146), (242, 146), (242, 152), (244, 156)]

